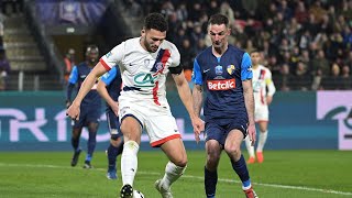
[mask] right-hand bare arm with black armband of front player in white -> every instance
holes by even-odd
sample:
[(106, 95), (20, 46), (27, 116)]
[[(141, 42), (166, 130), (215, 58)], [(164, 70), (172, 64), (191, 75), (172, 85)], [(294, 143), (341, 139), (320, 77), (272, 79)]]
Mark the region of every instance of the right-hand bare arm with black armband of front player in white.
[(188, 81), (185, 78), (183, 68), (180, 66), (175, 67), (175, 68), (170, 68), (170, 73), (172, 73), (172, 76), (175, 80), (179, 98), (188, 111), (189, 118), (190, 118), (193, 127), (194, 127), (194, 132), (196, 134), (199, 134), (200, 131), (202, 131), (204, 122), (196, 114), (196, 112), (193, 108), (193, 98), (191, 98)]

